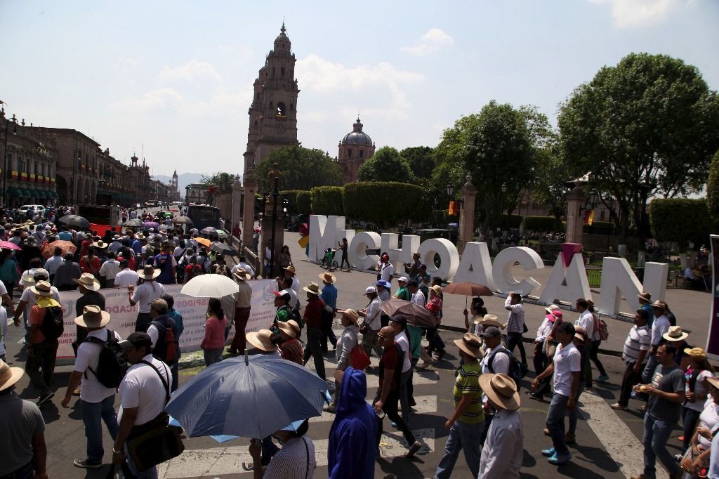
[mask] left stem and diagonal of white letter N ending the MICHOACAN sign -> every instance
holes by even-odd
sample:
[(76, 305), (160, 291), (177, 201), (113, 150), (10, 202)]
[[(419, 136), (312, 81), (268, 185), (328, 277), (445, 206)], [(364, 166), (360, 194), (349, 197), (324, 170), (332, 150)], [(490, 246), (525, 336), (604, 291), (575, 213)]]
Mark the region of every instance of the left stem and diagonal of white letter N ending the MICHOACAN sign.
[[(666, 277), (664, 278), (666, 281)], [(619, 314), (622, 295), (626, 298), (631, 311), (639, 309), (637, 295), (641, 293), (641, 283), (623, 257), (605, 257), (602, 261), (602, 286), (600, 288), (599, 311), (605, 314)]]

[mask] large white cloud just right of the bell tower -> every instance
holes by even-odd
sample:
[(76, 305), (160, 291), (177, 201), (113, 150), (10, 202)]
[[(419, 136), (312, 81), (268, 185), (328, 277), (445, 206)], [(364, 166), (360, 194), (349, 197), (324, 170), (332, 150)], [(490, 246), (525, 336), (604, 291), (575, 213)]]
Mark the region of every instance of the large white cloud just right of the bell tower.
[(406, 119), (411, 103), (403, 86), (424, 79), (421, 73), (398, 70), (390, 63), (350, 68), (315, 54), (297, 61), (296, 77), (303, 90), (300, 105), (313, 105), (312, 113), (303, 113), (303, 118), (318, 123), (353, 118), (358, 108), (362, 116)]

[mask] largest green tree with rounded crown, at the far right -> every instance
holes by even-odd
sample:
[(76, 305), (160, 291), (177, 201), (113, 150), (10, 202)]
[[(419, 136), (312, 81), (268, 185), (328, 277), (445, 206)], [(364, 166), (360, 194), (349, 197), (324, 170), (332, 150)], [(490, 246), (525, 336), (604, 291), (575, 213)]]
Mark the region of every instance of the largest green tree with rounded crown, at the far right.
[[(697, 68), (667, 55), (632, 53), (601, 68), (561, 106), (564, 154), (602, 193), (626, 240), (652, 196), (699, 191), (719, 147), (719, 100)], [(613, 201), (608, 201), (613, 200)]]

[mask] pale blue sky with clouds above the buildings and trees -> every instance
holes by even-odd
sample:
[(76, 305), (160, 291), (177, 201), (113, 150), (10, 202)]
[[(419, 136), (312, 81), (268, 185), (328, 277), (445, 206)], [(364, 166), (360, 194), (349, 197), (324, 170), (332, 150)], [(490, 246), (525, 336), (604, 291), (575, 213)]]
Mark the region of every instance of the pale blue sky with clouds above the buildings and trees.
[(78, 129), (155, 174), (242, 173), (252, 82), (285, 19), (298, 139), (327, 150), (357, 111), (377, 147), (435, 146), (496, 99), (557, 105), (631, 52), (697, 66), (719, 88), (719, 2), (0, 2), (0, 100)]

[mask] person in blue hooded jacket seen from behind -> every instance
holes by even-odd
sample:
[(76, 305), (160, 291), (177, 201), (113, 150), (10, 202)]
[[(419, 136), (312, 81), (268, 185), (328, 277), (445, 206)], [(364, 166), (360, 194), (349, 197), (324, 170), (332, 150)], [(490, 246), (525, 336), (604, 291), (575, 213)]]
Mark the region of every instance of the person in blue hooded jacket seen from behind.
[[(342, 377), (337, 377), (339, 375)], [(372, 406), (365, 401), (367, 376), (348, 366), (344, 374), (336, 371), (335, 378), (341, 381), (342, 386), (334, 422), (329, 431), (329, 478), (374, 478), (377, 416)]]

